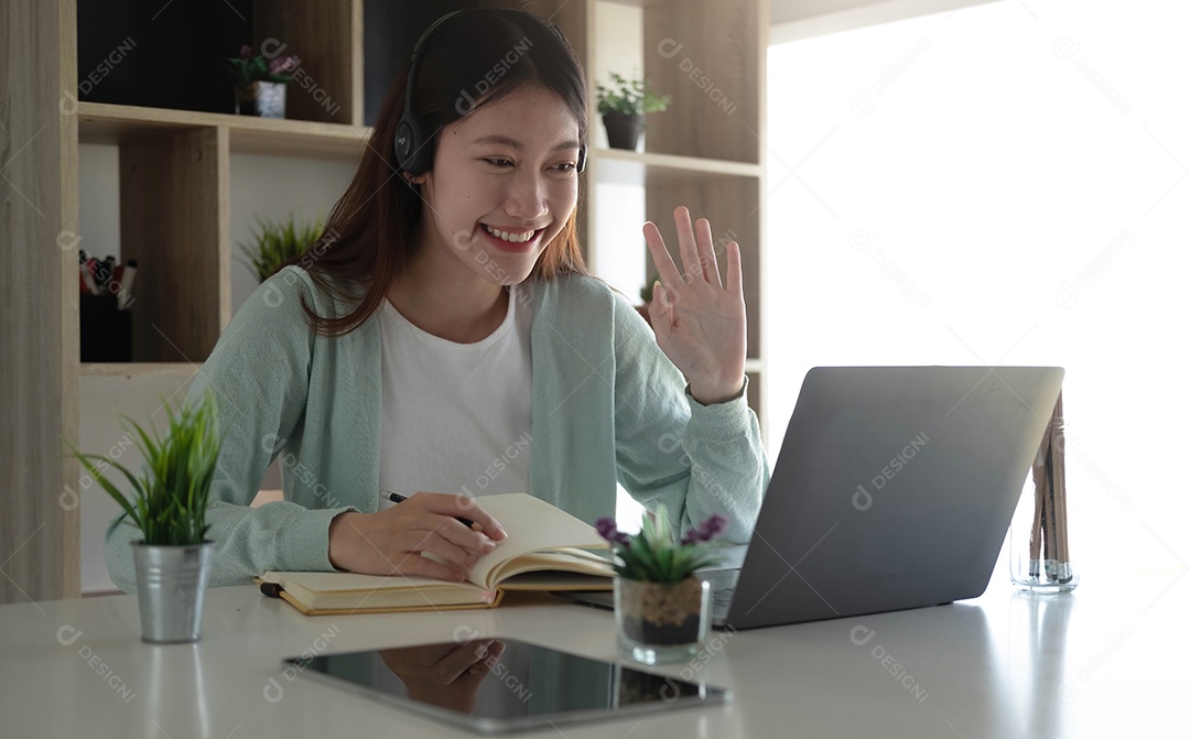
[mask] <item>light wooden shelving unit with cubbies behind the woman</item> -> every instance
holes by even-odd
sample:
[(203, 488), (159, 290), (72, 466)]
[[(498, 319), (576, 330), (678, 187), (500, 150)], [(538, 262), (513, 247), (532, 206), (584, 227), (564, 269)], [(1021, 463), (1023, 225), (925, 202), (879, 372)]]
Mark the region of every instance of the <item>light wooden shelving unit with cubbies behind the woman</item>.
[[(8, 470), (4, 539), (15, 543), (11, 547), (25, 543), (5, 565), (8, 577), (0, 578), (0, 602), (79, 593), (77, 513), (58, 506), (52, 491), (79, 478), (77, 465), (60, 450), (63, 437), (79, 438), (80, 377), (184, 378), (206, 359), (231, 319), (232, 157), (353, 161), (370, 133), (364, 125), (365, 0), (256, 0), (252, 42), (284, 39), (292, 50), (300, 50), (303, 70), (321, 90), (320, 98), (293, 90), (287, 120), (102, 102), (71, 106), (80, 82), (76, 2), (14, 2), (10, 18), (27, 23), (19, 30), (6, 29), (11, 42), (6, 58), (14, 64), (36, 60), (31, 67), (36, 74), (12, 80), (6, 93), (10, 105), (0, 112), (5, 179), (20, 194), (10, 198), (12, 215), (0, 228), (6, 243), (17, 245), (4, 250), (0, 264), (18, 290), (13, 301), (18, 307), (5, 319), (13, 369), (6, 370), (0, 395), (10, 415), (30, 419), (30, 425), (0, 452), (0, 466)], [(524, 6), (519, 0), (475, 5)], [(590, 70), (596, 50), (607, 40), (596, 32), (601, 5), (610, 4), (539, 0), (527, 10), (558, 24)], [(663, 233), (672, 228), (670, 212), (678, 203), (710, 218), (716, 234), (729, 232), (744, 250), (747, 372), (751, 400), (759, 411), (764, 380), (759, 142), (768, 2), (632, 5), (639, 12), (644, 73), (672, 93), (674, 104), (650, 117), (646, 151), (591, 151), (580, 232), (596, 264), (601, 253), (622, 248), (601, 240), (594, 217), (601, 170), (609, 173), (613, 167), (638, 168), (634, 176), (644, 212), (663, 225)], [(691, 76), (694, 67), (703, 70), (702, 77)], [(602, 124), (594, 113), (595, 74), (588, 76), (594, 132)], [(120, 252), (125, 259), (137, 258), (143, 270), (129, 364), (79, 361), (77, 265), (70, 244), (80, 230), (80, 144), (119, 146)], [(643, 239), (637, 253), (632, 258), (646, 259)], [(10, 549), (0, 555), (8, 557)]]

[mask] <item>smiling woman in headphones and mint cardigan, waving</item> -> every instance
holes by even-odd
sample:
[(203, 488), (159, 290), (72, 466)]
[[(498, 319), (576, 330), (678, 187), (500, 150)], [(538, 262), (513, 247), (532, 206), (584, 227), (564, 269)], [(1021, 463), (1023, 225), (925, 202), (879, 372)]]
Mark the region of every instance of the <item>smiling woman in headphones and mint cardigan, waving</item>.
[[(190, 389), (214, 390), (225, 439), (212, 584), (462, 580), (505, 537), (482, 494), (528, 490), (594, 522), (618, 481), (683, 530), (721, 513), (746, 541), (768, 468), (744, 397), (739, 246), (724, 284), (704, 219), (675, 212), (681, 269), (645, 224), (654, 337), (583, 265), (587, 92), (560, 33), (465, 11), (413, 56), (322, 239), (252, 294)], [(286, 500), (250, 508), (278, 455)], [(107, 532), (125, 590), (137, 538), (121, 519)]]

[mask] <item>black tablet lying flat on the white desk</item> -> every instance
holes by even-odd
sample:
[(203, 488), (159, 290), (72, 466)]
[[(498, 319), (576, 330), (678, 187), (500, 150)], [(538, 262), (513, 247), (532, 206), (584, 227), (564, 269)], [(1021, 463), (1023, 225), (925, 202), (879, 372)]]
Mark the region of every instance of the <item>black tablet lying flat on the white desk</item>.
[(727, 690), (518, 641), (483, 638), (286, 659), (343, 690), (499, 734), (725, 703)]

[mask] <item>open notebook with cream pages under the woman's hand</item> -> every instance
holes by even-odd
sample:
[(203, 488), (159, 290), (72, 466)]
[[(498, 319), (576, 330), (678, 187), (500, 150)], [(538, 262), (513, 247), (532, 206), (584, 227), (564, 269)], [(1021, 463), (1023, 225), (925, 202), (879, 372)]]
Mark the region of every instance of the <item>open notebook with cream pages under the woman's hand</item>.
[[(462, 583), (355, 572), (265, 572), (281, 597), (309, 615), (494, 608), (508, 590), (610, 590), (612, 563), (595, 528), (525, 493), (489, 495), (480, 505), (508, 538), (480, 557)], [(262, 588), (265, 589), (265, 588)]]

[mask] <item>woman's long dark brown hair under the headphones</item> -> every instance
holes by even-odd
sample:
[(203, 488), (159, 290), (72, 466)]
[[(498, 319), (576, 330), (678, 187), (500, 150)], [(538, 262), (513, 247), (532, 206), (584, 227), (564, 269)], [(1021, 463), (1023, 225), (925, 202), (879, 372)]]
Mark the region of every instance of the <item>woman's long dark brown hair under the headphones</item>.
[[(306, 269), (328, 294), (353, 303), (343, 315), (319, 315), (303, 300), (306, 315), (320, 334), (343, 336), (368, 320), (418, 249), (414, 234), (422, 218), (421, 196), (397, 171), (394, 155), (408, 76), (406, 63), (393, 80), (351, 183), (327, 215), (322, 237), (289, 262)], [(582, 65), (562, 35), (530, 13), (477, 8), (452, 15), (425, 48), (418, 76), (416, 106), (430, 132), (522, 86), (539, 84), (570, 108), (580, 140), (587, 140)], [(436, 148), (434, 139), (427, 146)], [(587, 274), (575, 219), (571, 213), (546, 245), (533, 276), (555, 280)]]

